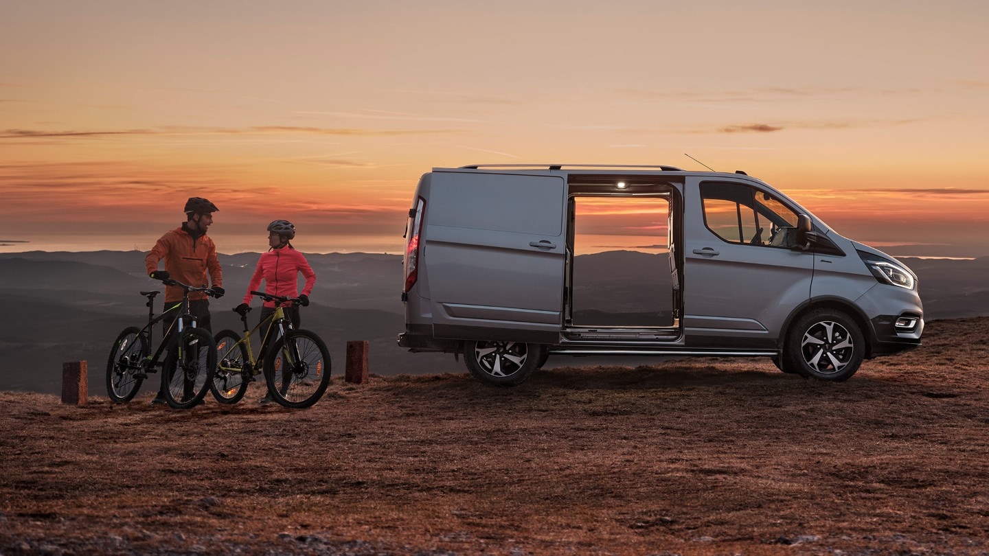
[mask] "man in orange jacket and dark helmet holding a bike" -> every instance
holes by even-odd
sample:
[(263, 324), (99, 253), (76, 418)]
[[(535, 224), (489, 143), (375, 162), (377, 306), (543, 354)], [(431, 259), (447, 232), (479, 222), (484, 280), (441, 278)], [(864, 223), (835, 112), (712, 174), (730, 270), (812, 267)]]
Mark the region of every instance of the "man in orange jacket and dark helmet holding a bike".
[[(151, 252), (144, 257), (147, 275), (155, 280), (171, 278), (190, 286), (207, 286), (207, 271), (212, 279), (214, 297), (224, 295), (224, 271), (217, 258), (217, 246), (206, 232), (213, 225), (213, 213), (220, 209), (202, 197), (190, 197), (186, 201), (186, 222), (180, 228), (165, 232)], [(158, 270), (158, 261), (164, 259), (165, 269)], [(165, 286), (165, 309), (182, 301), (182, 288)], [(210, 330), (210, 301), (204, 292), (189, 294), (189, 312), (196, 318), (197, 326)], [(169, 314), (163, 322), (163, 330), (178, 316)], [(167, 341), (167, 338), (166, 338)], [(161, 385), (164, 388), (164, 384)], [(151, 401), (152, 404), (163, 404), (165, 396), (162, 390)]]

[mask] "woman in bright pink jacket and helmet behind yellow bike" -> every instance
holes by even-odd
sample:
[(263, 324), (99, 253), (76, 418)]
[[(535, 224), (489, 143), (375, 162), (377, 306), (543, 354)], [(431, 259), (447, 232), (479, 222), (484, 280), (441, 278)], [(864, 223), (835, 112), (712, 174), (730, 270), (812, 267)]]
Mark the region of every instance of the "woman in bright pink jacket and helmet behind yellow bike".
[[(254, 276), (247, 285), (247, 293), (244, 301), (237, 306), (234, 311), (241, 315), (246, 315), (250, 311), (250, 295), (252, 291), (260, 291), (261, 280), (265, 282), (265, 292), (290, 298), (299, 298), (299, 304), (303, 307), (309, 305), (309, 296), (313, 293), (315, 285), (315, 272), (309, 265), (309, 261), (303, 254), (296, 250), (289, 241), (296, 236), (296, 227), (287, 220), (276, 220), (268, 225), (268, 245), (267, 252), (261, 253), (261, 258), (257, 261), (257, 268), (254, 269)], [(306, 286), (303, 293), (299, 293), (299, 273), (302, 272), (306, 278)], [(292, 321), (295, 328), (299, 328), (301, 323), (299, 318), (299, 306), (286, 307), (285, 316)], [(275, 302), (266, 301), (261, 308), (261, 320), (275, 312)]]

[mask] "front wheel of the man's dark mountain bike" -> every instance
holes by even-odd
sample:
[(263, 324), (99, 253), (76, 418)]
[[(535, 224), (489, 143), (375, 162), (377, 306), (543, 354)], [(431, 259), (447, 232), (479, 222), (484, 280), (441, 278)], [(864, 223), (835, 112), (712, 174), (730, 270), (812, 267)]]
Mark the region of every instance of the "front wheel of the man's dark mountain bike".
[(168, 405), (188, 410), (198, 405), (210, 389), (217, 368), (217, 344), (205, 328), (186, 328), (179, 341), (165, 358), (161, 380)]

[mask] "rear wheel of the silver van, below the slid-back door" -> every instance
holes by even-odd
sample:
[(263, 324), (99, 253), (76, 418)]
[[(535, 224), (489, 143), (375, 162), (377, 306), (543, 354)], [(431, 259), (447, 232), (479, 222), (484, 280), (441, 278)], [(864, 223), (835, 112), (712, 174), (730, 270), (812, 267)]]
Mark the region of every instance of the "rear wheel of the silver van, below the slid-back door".
[(464, 344), (464, 362), (474, 378), (492, 386), (517, 386), (529, 378), (546, 348), (538, 343), (471, 340)]

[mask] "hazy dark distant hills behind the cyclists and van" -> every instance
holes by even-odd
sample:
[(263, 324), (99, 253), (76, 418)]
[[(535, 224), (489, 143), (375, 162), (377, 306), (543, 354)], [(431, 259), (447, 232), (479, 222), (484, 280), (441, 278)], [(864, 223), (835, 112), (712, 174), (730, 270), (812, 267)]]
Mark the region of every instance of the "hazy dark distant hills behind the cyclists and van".
[[(240, 322), (230, 309), (240, 303), (259, 253), (221, 255), (224, 299), (214, 300), (214, 330)], [(381, 375), (463, 372), (463, 361), (449, 354), (410, 354), (396, 334), (405, 329), (401, 302), (402, 257), (368, 253), (307, 255), (317, 279), (313, 305), (303, 310), (304, 327), (322, 335), (334, 373), (343, 372), (347, 340), (371, 345), (371, 372)], [(976, 260), (907, 258), (920, 276), (928, 320), (989, 315), (989, 257)], [(576, 258), (577, 323), (609, 319), (672, 319), (669, 261), (666, 254), (610, 251)], [(105, 390), (110, 345), (127, 325), (147, 316), (140, 290), (161, 290), (144, 276), (140, 251), (0, 253), (0, 390), (60, 392), (61, 363), (86, 360), (90, 389)], [(651, 292), (660, 292), (652, 296)], [(160, 313), (160, 297), (155, 313)], [(254, 307), (259, 307), (257, 302)], [(256, 323), (257, 313), (250, 323)], [(625, 359), (615, 359), (624, 364)], [(594, 358), (601, 364), (601, 358)], [(554, 357), (549, 367), (590, 363)], [(144, 386), (144, 389), (150, 388)]]

